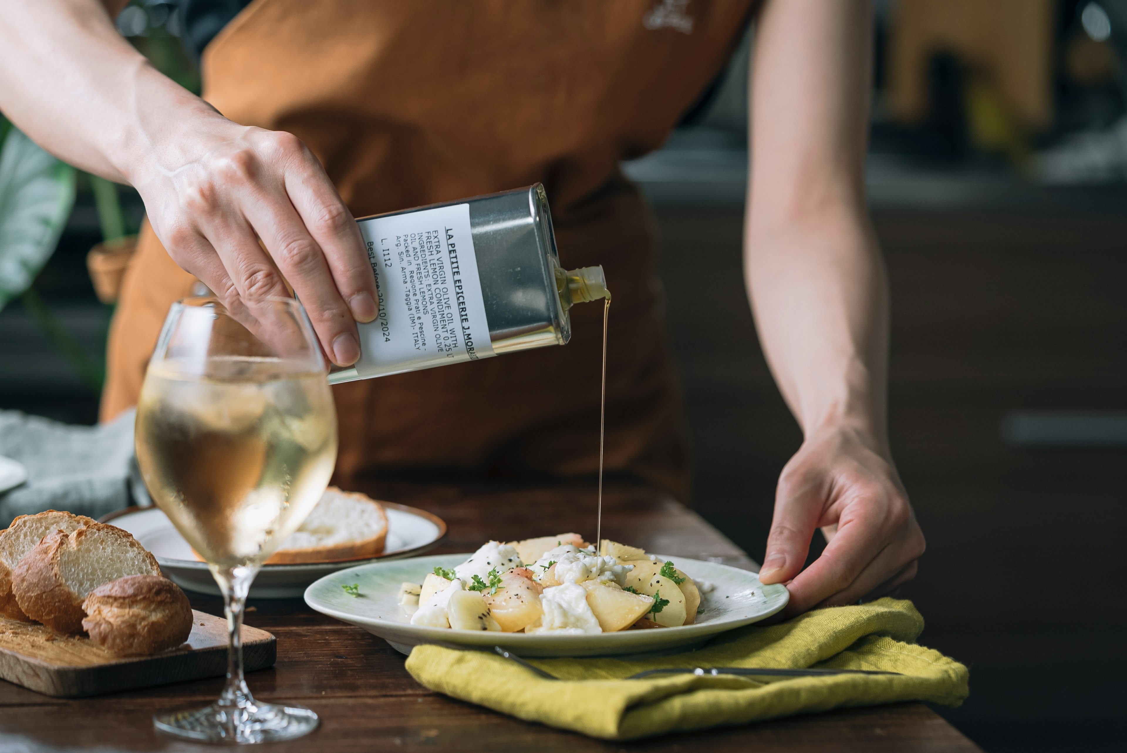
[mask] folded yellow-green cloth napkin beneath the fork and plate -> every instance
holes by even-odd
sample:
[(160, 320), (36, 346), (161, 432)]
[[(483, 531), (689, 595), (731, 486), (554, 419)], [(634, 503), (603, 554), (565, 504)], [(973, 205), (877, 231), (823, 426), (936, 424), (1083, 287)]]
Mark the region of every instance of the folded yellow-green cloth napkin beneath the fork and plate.
[[(494, 654), (416, 646), (407, 671), (419, 683), (527, 721), (606, 739), (738, 725), (843, 706), (932, 701), (958, 706), (967, 667), (913, 641), (923, 618), (912, 602), (808, 612), (770, 627), (724, 634), (672, 656), (529, 659), (560, 680), (544, 680)], [(743, 677), (671, 675), (624, 680), (657, 667), (833, 667), (896, 675)]]

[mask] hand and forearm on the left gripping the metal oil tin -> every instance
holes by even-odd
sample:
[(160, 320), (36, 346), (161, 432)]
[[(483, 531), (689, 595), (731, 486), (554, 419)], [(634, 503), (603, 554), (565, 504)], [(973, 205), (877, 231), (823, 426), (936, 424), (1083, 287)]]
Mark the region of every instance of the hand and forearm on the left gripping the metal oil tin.
[(0, 110), (60, 159), (135, 186), (172, 259), (233, 315), (287, 295), (289, 282), (326, 354), (354, 363), (375, 281), (320, 162), (153, 69), (114, 27), (124, 5), (0, 0)]

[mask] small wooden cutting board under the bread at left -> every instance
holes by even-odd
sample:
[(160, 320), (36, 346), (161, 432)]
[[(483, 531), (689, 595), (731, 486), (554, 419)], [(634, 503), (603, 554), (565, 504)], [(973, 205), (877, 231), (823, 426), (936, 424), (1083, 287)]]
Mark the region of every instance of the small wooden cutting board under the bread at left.
[[(227, 620), (193, 610), (186, 644), (151, 656), (122, 658), (89, 638), (0, 617), (0, 677), (46, 696), (76, 698), (227, 674)], [(247, 672), (273, 666), (277, 639), (242, 626)]]

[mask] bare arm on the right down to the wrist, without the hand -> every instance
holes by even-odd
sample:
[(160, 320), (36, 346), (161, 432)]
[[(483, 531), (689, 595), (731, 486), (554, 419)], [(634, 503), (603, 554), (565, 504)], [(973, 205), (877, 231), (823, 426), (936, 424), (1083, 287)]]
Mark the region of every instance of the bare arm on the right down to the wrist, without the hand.
[(864, 206), (867, 3), (770, 0), (752, 71), (745, 271), (775, 380), (807, 436), (885, 438), (888, 291)]

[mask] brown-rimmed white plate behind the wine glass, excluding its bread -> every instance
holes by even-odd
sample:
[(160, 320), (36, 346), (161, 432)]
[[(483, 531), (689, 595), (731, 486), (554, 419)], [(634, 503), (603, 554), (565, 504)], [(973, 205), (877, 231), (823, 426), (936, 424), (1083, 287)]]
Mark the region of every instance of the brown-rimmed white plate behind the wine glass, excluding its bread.
[[(251, 599), (298, 599), (313, 581), (362, 562), (399, 559), (433, 549), (446, 535), (446, 524), (437, 515), (397, 505), (380, 503), (388, 512), (388, 539), (379, 557), (336, 562), (305, 565), (264, 565), (250, 586)], [(160, 569), (181, 588), (220, 595), (207, 565), (192, 553), (192, 547), (163, 512), (156, 507), (128, 507), (101, 519), (125, 529), (151, 551)], [(398, 587), (398, 584), (397, 584)]]

